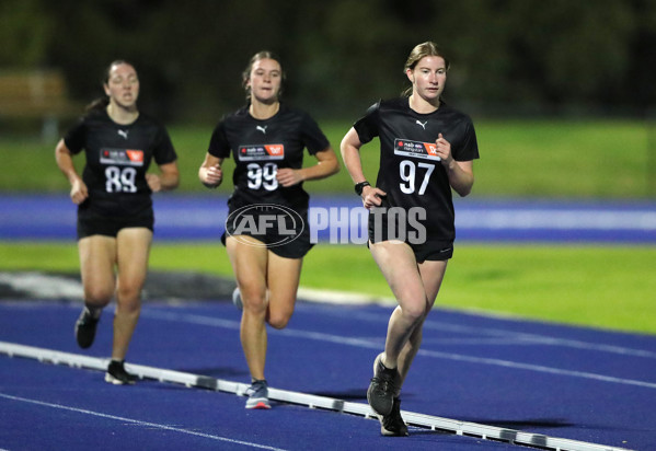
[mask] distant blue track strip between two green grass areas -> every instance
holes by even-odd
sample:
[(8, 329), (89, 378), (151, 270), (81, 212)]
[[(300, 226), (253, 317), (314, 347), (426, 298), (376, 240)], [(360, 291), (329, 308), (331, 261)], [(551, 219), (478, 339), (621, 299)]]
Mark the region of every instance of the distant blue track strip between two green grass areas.
[[(157, 240), (218, 241), (228, 213), (219, 195), (157, 194)], [(656, 243), (655, 201), (554, 201), (465, 198), (456, 201), (458, 241)], [(0, 196), (0, 240), (74, 241), (68, 196)], [(312, 196), (310, 230), (318, 242), (366, 242), (356, 196)], [(362, 222), (361, 219), (365, 219)]]

